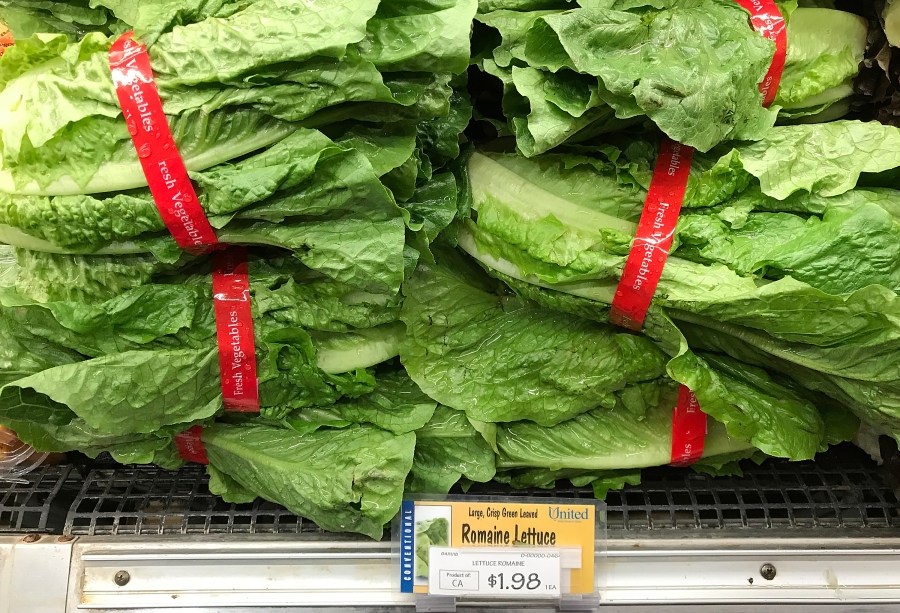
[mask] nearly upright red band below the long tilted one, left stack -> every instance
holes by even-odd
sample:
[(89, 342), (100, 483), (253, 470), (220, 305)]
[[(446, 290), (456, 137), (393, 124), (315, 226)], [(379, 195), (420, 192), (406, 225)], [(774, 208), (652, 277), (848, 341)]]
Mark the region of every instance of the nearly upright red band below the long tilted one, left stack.
[(229, 247), (213, 258), (213, 303), (225, 410), (259, 413), (247, 250)]

